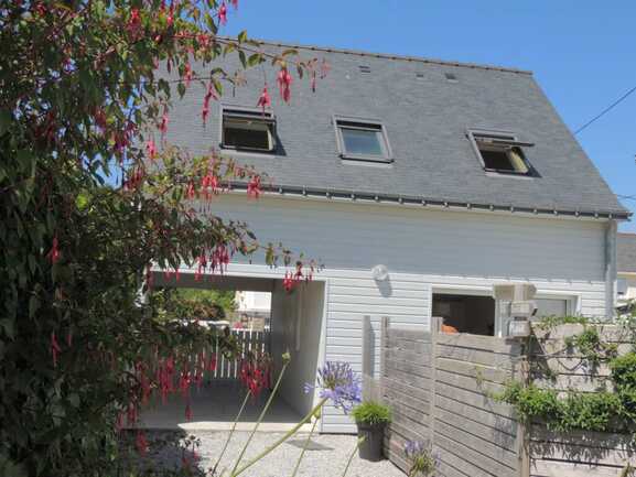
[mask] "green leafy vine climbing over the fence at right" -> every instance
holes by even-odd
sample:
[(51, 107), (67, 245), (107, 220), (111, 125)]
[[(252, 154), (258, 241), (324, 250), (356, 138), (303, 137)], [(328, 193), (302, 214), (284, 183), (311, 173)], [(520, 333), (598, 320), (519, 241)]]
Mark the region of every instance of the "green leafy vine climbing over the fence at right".
[[(625, 318), (619, 329), (621, 340), (636, 344), (633, 318)], [(549, 317), (535, 327), (527, 343), (528, 349), (542, 349), (550, 333), (563, 324), (582, 325), (583, 329), (563, 338), (564, 348), (552, 354), (533, 354), (530, 357), (530, 381), (509, 381), (503, 392), (495, 395), (511, 404), (522, 422), (546, 424), (552, 431), (573, 430), (629, 433), (636, 430), (636, 345), (619, 355), (618, 345), (603, 339), (602, 324), (584, 317)], [(560, 355), (576, 356), (579, 366), (595, 375), (606, 366), (608, 376), (595, 392), (576, 389), (552, 389), (540, 380), (554, 382), (558, 373), (546, 364)]]

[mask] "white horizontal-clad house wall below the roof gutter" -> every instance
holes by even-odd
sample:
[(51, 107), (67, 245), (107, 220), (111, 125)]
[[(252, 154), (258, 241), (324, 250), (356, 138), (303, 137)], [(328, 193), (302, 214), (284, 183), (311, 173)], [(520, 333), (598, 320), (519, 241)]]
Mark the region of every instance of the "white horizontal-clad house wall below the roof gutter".
[[(349, 361), (358, 371), (363, 317), (370, 316), (374, 327), (377, 375), (380, 317), (390, 316), (396, 326), (428, 329), (433, 288), (488, 292), (493, 283), (531, 282), (542, 296), (572, 296), (575, 312), (605, 313), (602, 220), (287, 197), (247, 200), (238, 194), (216, 198), (215, 208), (220, 216), (247, 221), (261, 243), (283, 241), (323, 261), (325, 269), (319, 274), (326, 281), (323, 357)], [(387, 281), (373, 280), (370, 269), (379, 263), (389, 270)], [(229, 271), (272, 273), (247, 262)], [(283, 268), (276, 273), (282, 275)], [(272, 312), (285, 306), (279, 300), (274, 294)], [(322, 431), (351, 432), (353, 425), (348, 416), (327, 408)]]

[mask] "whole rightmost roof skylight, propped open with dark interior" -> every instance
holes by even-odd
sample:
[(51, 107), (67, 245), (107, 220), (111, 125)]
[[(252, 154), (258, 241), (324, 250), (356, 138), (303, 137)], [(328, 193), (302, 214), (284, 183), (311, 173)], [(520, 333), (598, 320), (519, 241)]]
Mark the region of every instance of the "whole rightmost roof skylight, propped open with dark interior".
[(507, 174), (528, 175), (530, 165), (524, 154), (524, 148), (533, 144), (519, 142), (514, 135), (470, 131), (470, 139), (484, 170)]

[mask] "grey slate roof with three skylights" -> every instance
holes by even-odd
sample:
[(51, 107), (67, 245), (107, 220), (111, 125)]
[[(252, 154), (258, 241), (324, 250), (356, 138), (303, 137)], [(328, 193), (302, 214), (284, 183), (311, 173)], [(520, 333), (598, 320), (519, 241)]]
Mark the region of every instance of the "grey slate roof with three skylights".
[[(511, 68), (434, 59), (378, 55), (343, 50), (298, 48), (300, 57), (326, 59), (331, 71), (312, 93), (309, 80), (294, 76), (292, 99), (285, 105), (276, 85), (277, 69), (268, 64), (246, 73), (247, 86), (224, 105), (255, 107), (263, 74), (272, 96), (280, 147), (276, 155), (235, 154), (271, 177), (281, 192), (334, 194), (396, 202), (436, 203), (624, 218), (605, 181), (537, 85), (531, 73)], [(263, 43), (280, 51), (290, 45)], [(227, 71), (238, 58), (224, 59)], [(370, 73), (362, 73), (368, 66)], [(194, 67), (196, 74), (206, 72)], [(456, 76), (456, 83), (445, 78)], [(195, 153), (218, 148), (219, 106), (211, 105), (207, 126), (201, 109), (204, 87), (192, 84), (174, 99), (169, 141)], [(333, 116), (381, 120), (394, 162), (364, 165), (338, 156)], [(468, 128), (508, 130), (536, 145), (526, 155), (537, 177), (487, 174), (466, 139)]]

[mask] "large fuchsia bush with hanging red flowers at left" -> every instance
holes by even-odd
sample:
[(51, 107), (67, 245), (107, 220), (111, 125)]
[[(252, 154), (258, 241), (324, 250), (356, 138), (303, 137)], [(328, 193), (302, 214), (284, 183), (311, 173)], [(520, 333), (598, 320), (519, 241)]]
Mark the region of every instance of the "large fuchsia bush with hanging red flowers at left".
[[(160, 322), (140, 304), (153, 268), (179, 280), (186, 263), (205, 280), (240, 254), (289, 268), (290, 292), (311, 279), (315, 263), (214, 215), (218, 194), (240, 184), (257, 199), (266, 177), (166, 141), (173, 95), (204, 85), (196, 115), (205, 122), (224, 86), (244, 86), (222, 56), (272, 65), (283, 102), (300, 85), (292, 72), (312, 89), (326, 74), (317, 58), (219, 35), (237, 7), (0, 2), (0, 474), (111, 475), (116, 429), (137, 422), (147, 402), (201, 383), (219, 337)], [(160, 66), (177, 79), (163, 80)], [(273, 98), (263, 76), (254, 105), (265, 110)], [(249, 366), (246, 383), (262, 389), (268, 368)], [(141, 433), (137, 447), (147, 448)]]

